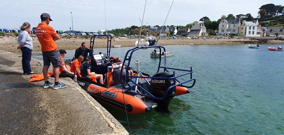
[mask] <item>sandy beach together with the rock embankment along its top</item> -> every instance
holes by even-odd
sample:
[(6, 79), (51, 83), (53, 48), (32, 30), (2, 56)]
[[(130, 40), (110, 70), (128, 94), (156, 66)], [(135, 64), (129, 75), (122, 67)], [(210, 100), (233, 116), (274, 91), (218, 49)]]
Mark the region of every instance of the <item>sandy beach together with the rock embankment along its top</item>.
[[(57, 40), (59, 49), (74, 50), (81, 46), (82, 42), (90, 43), (90, 37), (77, 35), (60, 35), (61, 39)], [(121, 45), (121, 47), (134, 47), (137, 39), (129, 39), (126, 37), (119, 37), (119, 41), (112, 40), (112, 45)], [(32, 35), (34, 51), (40, 51), (41, 45), (35, 35)], [(204, 36), (204, 37), (179, 37), (172, 39), (172, 37), (160, 37), (159, 45), (244, 45), (244, 44), (283, 44), (284, 38), (280, 37), (254, 37), (243, 38), (238, 36)], [(105, 48), (106, 39), (95, 39), (94, 48)], [(5, 50), (12, 53), (21, 53), (17, 50), (17, 35), (7, 34), (0, 35), (0, 50)]]

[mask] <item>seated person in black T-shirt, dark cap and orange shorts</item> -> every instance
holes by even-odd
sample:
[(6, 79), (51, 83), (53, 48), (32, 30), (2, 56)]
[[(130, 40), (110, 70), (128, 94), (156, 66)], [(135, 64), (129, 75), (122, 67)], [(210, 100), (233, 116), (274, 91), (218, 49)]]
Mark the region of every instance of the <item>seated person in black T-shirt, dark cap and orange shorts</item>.
[(93, 80), (99, 79), (100, 83), (103, 84), (103, 75), (91, 72), (91, 66), (90, 66), (90, 62), (92, 60), (91, 56), (87, 56), (85, 59), (86, 60), (84, 61), (84, 63), (82, 63), (80, 66), (82, 78), (90, 78)]

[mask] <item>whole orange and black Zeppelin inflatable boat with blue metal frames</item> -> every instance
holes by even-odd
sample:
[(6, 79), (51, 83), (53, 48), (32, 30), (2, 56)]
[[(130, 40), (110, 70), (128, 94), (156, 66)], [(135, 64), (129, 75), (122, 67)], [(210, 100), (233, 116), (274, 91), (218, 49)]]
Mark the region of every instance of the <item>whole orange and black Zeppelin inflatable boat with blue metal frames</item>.
[[(96, 36), (107, 36), (108, 45), (106, 54), (93, 54), (90, 53), (89, 56), (92, 57), (91, 60), (91, 72), (96, 72), (96, 74), (103, 74), (104, 84), (93, 82), (93, 80), (88, 78), (78, 77), (78, 85), (83, 88), (88, 94), (90, 94), (94, 99), (102, 101), (109, 104), (117, 109), (126, 110), (130, 114), (139, 114), (144, 112), (149, 112), (155, 107), (161, 109), (168, 109), (171, 99), (174, 96), (179, 96), (189, 93), (188, 88), (192, 88), (195, 84), (195, 79), (192, 78), (193, 70), (190, 69), (175, 69), (166, 67), (166, 57), (163, 60), (157, 62), (158, 69), (154, 75), (145, 74), (140, 71), (140, 60), (136, 60), (136, 72), (130, 76), (128, 72), (122, 74), (120, 70), (120, 84), (112, 85), (112, 81), (115, 81), (115, 77), (109, 76), (109, 70), (111, 69), (110, 58), (110, 43), (111, 36), (108, 35), (94, 35), (91, 37), (91, 44), (93, 46), (90, 48), (93, 52), (94, 39)], [(122, 63), (125, 65), (125, 71), (129, 70), (129, 66), (133, 53), (136, 50), (146, 50), (148, 48), (159, 49), (159, 52), (165, 52), (165, 48), (162, 46), (137, 46), (127, 51), (125, 58)], [(141, 53), (141, 52), (139, 52)], [(147, 52), (145, 55), (148, 54)], [(164, 64), (161, 65), (162, 61)], [(70, 63), (65, 62), (65, 63)], [(118, 69), (118, 64), (114, 66), (114, 69)], [(132, 62), (133, 63), (133, 62)], [(150, 67), (149, 67), (150, 68)], [(149, 69), (151, 70), (151, 69)], [(182, 73), (177, 75), (176, 72)], [(182, 79), (180, 79), (180, 77)], [(183, 81), (179, 81), (183, 80)], [(192, 82), (191, 82), (192, 81)], [(185, 84), (190, 84), (189, 86)]]

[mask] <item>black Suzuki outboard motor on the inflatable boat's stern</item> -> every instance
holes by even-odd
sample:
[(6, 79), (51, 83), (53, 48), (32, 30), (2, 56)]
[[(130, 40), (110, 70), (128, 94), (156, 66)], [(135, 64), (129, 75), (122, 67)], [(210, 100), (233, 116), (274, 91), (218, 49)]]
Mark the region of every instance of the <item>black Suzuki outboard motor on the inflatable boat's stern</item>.
[[(169, 72), (160, 72), (160, 73), (154, 74), (153, 77), (168, 78), (168, 77), (173, 77), (173, 74)], [(164, 97), (166, 90), (172, 85), (175, 85), (173, 79), (171, 80), (151, 79), (151, 94), (153, 96), (162, 98)], [(159, 108), (168, 109), (170, 101), (175, 96), (175, 94), (176, 94), (176, 90), (175, 90), (175, 87), (173, 87), (169, 90), (164, 100), (157, 100), (157, 99), (153, 99), (153, 100), (154, 102), (158, 104)]]

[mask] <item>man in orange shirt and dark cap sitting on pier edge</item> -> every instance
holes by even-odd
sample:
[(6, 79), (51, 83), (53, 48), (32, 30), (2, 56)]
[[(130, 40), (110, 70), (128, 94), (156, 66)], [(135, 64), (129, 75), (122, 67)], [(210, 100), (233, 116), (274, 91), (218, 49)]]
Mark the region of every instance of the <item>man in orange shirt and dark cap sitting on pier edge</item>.
[(63, 60), (63, 57), (66, 55), (66, 51), (64, 49), (59, 50), (62, 65), (59, 68), (59, 77), (70, 77), (74, 82), (77, 82), (77, 75), (72, 73), (70, 70), (68, 70), (65, 66), (65, 62)]

